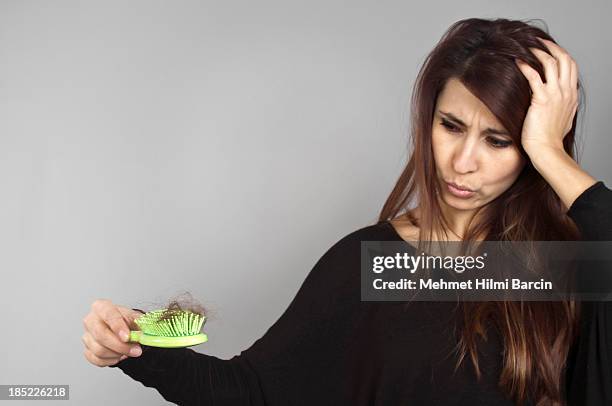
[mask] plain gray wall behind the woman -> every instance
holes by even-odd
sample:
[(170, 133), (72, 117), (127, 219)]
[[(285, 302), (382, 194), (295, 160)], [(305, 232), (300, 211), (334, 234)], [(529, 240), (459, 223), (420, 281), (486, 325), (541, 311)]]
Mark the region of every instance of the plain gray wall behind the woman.
[[(588, 6), (587, 6), (588, 4)], [(407, 157), (417, 70), (466, 17), (542, 18), (588, 98), (581, 164), (612, 185), (609, 2), (0, 2), (0, 383), (166, 404), (83, 357), (96, 298), (185, 290), (221, 358), (371, 224)], [(62, 403), (62, 402), (58, 402)]]

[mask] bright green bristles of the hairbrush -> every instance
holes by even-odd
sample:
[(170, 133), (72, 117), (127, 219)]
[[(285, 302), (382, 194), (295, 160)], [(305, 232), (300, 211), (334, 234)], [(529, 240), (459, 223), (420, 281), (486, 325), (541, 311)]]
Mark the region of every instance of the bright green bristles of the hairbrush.
[[(165, 318), (161, 319), (166, 313)], [(153, 310), (138, 317), (134, 322), (144, 334), (181, 337), (200, 333), (206, 316), (188, 310), (167, 313), (166, 309)]]

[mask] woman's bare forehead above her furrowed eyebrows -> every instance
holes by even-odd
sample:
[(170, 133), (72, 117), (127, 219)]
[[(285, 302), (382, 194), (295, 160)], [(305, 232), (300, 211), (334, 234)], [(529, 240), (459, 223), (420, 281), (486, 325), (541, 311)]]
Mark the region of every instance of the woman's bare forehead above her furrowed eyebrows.
[(436, 110), (438, 109), (450, 112), (465, 121), (479, 114), (487, 122), (498, 123), (487, 106), (456, 78), (449, 79), (438, 95)]

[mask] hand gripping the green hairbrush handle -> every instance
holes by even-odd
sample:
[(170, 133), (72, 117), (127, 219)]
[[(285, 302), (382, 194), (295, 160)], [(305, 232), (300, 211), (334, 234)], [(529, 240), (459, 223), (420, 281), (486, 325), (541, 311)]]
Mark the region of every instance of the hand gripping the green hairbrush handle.
[(140, 344), (127, 341), (130, 330), (139, 330), (134, 319), (140, 315), (142, 313), (110, 300), (95, 300), (91, 311), (83, 318), (83, 355), (87, 361), (106, 367), (127, 357), (139, 357), (142, 354)]

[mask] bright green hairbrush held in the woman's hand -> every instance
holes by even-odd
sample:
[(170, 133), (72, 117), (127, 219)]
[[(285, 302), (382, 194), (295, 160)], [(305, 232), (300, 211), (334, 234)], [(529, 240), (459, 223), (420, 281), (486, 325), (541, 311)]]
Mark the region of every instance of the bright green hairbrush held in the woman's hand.
[(151, 347), (190, 347), (208, 341), (200, 332), (204, 321), (206, 316), (188, 310), (153, 310), (134, 320), (141, 331), (130, 331), (129, 341)]

